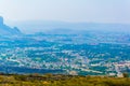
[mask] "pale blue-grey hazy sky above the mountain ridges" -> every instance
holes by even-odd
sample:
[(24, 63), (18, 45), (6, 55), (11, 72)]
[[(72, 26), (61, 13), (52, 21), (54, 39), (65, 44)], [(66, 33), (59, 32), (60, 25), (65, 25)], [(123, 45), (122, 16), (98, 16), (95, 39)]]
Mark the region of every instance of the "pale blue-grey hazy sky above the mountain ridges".
[(130, 0), (0, 0), (8, 20), (130, 24)]

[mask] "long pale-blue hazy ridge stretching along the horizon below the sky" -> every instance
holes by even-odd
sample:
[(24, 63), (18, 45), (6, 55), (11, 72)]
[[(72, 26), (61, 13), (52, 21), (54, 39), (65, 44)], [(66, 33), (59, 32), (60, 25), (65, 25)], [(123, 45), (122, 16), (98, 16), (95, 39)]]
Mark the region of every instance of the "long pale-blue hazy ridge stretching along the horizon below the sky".
[(128, 24), (100, 24), (100, 23), (65, 23), (49, 20), (27, 20), (9, 23), (11, 26), (17, 26), (24, 33), (46, 32), (46, 33), (64, 33), (70, 31), (112, 31), (129, 32)]

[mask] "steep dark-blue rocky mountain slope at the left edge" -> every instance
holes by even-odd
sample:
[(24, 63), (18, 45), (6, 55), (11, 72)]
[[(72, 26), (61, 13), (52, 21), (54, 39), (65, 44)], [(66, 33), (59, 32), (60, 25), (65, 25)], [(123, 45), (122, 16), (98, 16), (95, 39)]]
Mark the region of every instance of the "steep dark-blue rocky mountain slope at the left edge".
[(17, 27), (11, 28), (6, 26), (3, 22), (3, 17), (0, 16), (0, 37), (22, 34)]

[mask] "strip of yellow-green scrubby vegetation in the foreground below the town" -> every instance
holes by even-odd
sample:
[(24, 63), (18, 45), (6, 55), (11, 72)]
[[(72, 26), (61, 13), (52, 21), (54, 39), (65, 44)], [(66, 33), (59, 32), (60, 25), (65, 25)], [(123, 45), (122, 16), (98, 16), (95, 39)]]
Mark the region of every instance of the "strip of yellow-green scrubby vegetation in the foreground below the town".
[(1, 74), (0, 86), (130, 86), (128, 77)]

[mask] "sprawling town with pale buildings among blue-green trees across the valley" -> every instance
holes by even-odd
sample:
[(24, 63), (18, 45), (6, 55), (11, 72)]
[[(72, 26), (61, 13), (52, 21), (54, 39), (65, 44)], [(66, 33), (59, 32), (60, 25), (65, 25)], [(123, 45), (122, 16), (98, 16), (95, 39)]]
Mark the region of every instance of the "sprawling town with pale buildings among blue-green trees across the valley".
[[(4, 69), (0, 71), (26, 73), (27, 69), (32, 73), (51, 70), (55, 74), (121, 76), (130, 72), (129, 38), (127, 33), (91, 31), (86, 34), (36, 33), (4, 40), (1, 37), (0, 67)], [(17, 68), (24, 70), (15, 70)]]

